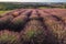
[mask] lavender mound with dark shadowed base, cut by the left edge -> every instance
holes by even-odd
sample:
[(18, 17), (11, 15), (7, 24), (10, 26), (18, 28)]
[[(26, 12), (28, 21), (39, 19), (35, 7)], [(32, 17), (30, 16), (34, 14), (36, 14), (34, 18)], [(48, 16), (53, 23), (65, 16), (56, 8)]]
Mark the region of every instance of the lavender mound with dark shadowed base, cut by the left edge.
[(0, 19), (0, 29), (8, 28), (9, 23), (13, 19), (12, 15), (7, 15)]

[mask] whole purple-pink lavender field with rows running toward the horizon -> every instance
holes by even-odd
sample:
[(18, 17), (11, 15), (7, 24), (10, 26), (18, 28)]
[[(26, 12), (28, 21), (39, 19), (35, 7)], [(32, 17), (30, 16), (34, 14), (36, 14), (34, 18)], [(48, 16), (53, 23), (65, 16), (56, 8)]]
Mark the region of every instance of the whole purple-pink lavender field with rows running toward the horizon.
[(66, 44), (66, 9), (16, 9), (1, 14), (0, 44)]

